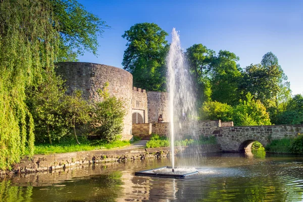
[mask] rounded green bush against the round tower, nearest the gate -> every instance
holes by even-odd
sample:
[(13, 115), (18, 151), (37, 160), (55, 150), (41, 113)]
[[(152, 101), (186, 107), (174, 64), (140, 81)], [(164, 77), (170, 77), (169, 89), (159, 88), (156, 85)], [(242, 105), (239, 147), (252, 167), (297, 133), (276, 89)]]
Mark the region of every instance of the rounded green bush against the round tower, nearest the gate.
[(102, 102), (94, 105), (94, 116), (92, 118), (93, 134), (99, 135), (107, 142), (113, 142), (123, 129), (123, 119), (126, 113), (123, 100), (110, 96), (108, 92), (109, 83), (106, 83), (103, 90), (99, 90)]

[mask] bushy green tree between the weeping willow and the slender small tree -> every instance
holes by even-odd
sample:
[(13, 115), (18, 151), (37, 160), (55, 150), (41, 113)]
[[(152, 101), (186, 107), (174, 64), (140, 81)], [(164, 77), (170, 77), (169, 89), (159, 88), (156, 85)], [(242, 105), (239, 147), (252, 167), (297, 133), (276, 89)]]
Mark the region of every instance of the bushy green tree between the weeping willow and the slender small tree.
[(49, 73), (36, 88), (27, 91), (27, 105), (35, 122), (35, 137), (39, 141), (60, 139), (67, 134), (63, 114), (66, 98), (63, 80)]

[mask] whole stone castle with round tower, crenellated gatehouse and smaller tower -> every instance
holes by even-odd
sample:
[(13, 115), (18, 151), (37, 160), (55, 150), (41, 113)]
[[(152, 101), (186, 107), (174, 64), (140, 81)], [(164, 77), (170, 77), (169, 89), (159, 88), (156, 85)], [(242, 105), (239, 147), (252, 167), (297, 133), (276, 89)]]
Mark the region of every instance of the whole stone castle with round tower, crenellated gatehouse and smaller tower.
[(57, 74), (66, 80), (67, 93), (79, 89), (89, 100), (101, 100), (97, 90), (109, 82), (109, 93), (125, 102), (127, 113), (124, 117), (122, 134), (132, 134), (132, 124), (155, 123), (162, 116), (168, 120), (168, 97), (166, 92), (145, 91), (133, 87), (132, 75), (117, 67), (82, 62), (58, 63)]

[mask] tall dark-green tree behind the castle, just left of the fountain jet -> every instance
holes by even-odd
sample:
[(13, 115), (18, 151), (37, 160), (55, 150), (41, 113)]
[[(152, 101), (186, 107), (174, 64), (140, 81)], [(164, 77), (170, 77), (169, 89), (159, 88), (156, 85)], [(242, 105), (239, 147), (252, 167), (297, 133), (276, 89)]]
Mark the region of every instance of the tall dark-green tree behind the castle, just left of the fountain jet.
[(155, 23), (139, 23), (122, 35), (128, 42), (123, 68), (133, 75), (133, 85), (146, 90), (165, 90), (165, 57), (168, 35)]

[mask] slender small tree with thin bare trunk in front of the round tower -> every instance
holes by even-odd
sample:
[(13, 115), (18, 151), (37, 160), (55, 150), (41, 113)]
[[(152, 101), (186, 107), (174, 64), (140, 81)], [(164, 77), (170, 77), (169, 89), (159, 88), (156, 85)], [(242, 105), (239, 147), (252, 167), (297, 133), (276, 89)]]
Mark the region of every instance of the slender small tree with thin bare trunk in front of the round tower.
[(90, 120), (90, 105), (82, 98), (82, 91), (75, 90), (66, 96), (64, 118), (68, 127), (73, 128), (74, 137), (78, 144), (76, 125), (83, 125)]

